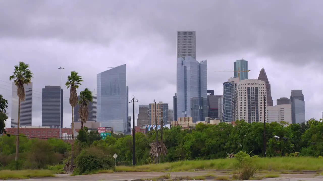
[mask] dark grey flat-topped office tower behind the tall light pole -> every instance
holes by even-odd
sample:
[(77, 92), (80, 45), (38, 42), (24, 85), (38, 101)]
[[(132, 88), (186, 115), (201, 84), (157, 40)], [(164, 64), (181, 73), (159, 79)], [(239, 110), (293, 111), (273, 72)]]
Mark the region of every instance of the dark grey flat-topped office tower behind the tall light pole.
[[(60, 95), (60, 92), (62, 95)], [(61, 97), (60, 97), (61, 96)], [(59, 111), (59, 109), (61, 111)], [(45, 86), (42, 99), (42, 126), (59, 128), (59, 116), (61, 127), (63, 126), (63, 90), (60, 86)]]

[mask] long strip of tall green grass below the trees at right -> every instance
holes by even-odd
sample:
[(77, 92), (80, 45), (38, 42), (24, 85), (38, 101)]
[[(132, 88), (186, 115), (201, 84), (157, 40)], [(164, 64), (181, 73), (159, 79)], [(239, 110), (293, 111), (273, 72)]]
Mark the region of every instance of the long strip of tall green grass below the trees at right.
[[(323, 170), (323, 158), (313, 157), (272, 157), (272, 158), (252, 158), (253, 164), (258, 170), (271, 171), (301, 171), (301, 170)], [(116, 167), (115, 171), (128, 172), (157, 172), (157, 171), (192, 171), (192, 170), (235, 170), (237, 169), (236, 159), (214, 159), (179, 161), (171, 163), (161, 163), (157, 165), (141, 165), (136, 167)]]

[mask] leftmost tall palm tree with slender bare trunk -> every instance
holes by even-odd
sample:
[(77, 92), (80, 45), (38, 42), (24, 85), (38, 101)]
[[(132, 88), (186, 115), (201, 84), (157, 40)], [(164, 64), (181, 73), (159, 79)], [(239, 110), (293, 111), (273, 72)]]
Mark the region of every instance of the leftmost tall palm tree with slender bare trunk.
[[(18, 101), (18, 120), (17, 120), (17, 135), (19, 135), (20, 127), (20, 103), (25, 101), (25, 88), (24, 85), (31, 83), (31, 78), (33, 78), (33, 73), (28, 69), (29, 64), (25, 62), (19, 62), (19, 65), (15, 65), (15, 71), (13, 75), (9, 77), (9, 80), (14, 80), (15, 85), (17, 86), (17, 95), (19, 98)], [(16, 157), (15, 160), (18, 160), (19, 153), (19, 136), (17, 136), (16, 141)], [(17, 169), (17, 168), (16, 168)]]

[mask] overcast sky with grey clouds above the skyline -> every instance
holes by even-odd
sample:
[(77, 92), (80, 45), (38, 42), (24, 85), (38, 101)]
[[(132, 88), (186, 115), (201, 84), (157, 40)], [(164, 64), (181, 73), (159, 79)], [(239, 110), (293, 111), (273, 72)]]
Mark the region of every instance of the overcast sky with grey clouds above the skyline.
[[(274, 105), (301, 89), (306, 118), (321, 118), (322, 5), (320, 0), (0, 1), (0, 93), (10, 112), (8, 78), (19, 61), (30, 64), (32, 124), (41, 125), (41, 91), (59, 85), (58, 67), (65, 68), (63, 82), (70, 71), (84, 77), (80, 91), (96, 89), (99, 72), (126, 63), (129, 97), (139, 101), (136, 115), (139, 104), (154, 99), (172, 108), (176, 31), (191, 30), (197, 60), (208, 60), (208, 89), (215, 94), (222, 94), (222, 83), (233, 73), (214, 71), (233, 70), (233, 62), (244, 58), (249, 78), (265, 68)], [(64, 127), (71, 120), (68, 96), (64, 88)]]

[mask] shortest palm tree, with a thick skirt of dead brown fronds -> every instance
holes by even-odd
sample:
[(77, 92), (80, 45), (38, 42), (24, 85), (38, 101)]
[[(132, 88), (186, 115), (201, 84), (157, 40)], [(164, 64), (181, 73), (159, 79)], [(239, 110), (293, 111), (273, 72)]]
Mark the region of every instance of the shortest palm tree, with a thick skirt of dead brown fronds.
[(83, 124), (86, 123), (89, 117), (89, 109), (88, 104), (92, 102), (92, 91), (88, 88), (85, 88), (80, 92), (80, 99), (78, 100), (78, 104), (80, 108), (78, 109), (78, 114), (81, 118), (81, 129), (83, 130)]

